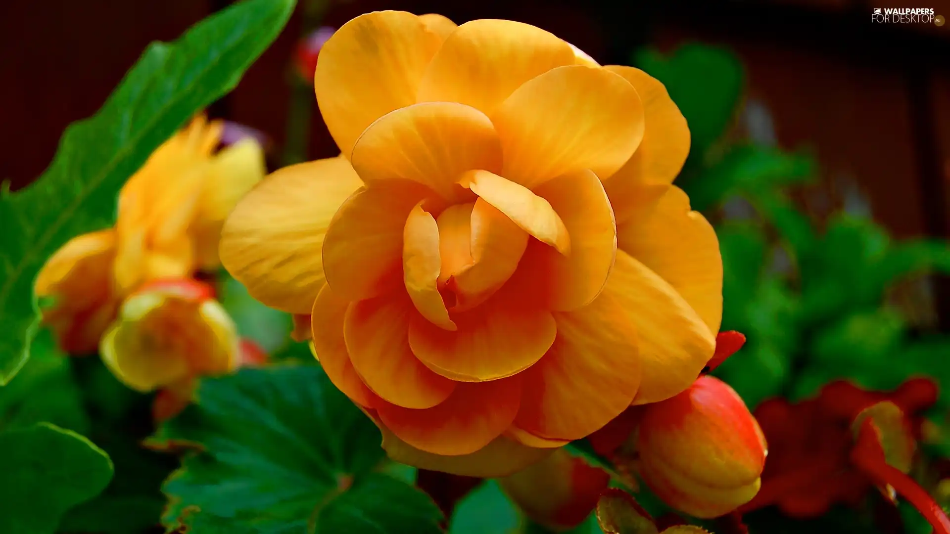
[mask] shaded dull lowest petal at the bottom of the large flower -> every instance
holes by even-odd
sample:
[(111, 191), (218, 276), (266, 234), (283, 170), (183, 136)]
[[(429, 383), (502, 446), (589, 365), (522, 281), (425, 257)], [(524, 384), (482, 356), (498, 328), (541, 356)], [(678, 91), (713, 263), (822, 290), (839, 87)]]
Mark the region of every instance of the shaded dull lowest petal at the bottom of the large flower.
[(431, 469), (460, 476), (502, 477), (541, 461), (552, 448), (532, 448), (501, 436), (470, 454), (443, 456), (414, 448), (399, 439), (390, 429), (377, 426), (383, 433), (383, 448), (395, 462), (420, 469)]

